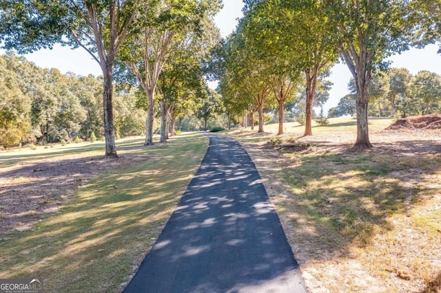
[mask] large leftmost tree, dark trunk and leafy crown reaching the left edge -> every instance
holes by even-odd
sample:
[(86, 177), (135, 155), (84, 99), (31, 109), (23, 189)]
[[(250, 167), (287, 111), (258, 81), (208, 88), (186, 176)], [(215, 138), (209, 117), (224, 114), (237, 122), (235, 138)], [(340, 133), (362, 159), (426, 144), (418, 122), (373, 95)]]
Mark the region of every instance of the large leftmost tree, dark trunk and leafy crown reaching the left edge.
[[(105, 157), (117, 158), (113, 125), (114, 63), (141, 0), (1, 1), (0, 41), (32, 52), (54, 43), (83, 47), (103, 72)], [(32, 12), (32, 13), (31, 13)]]

